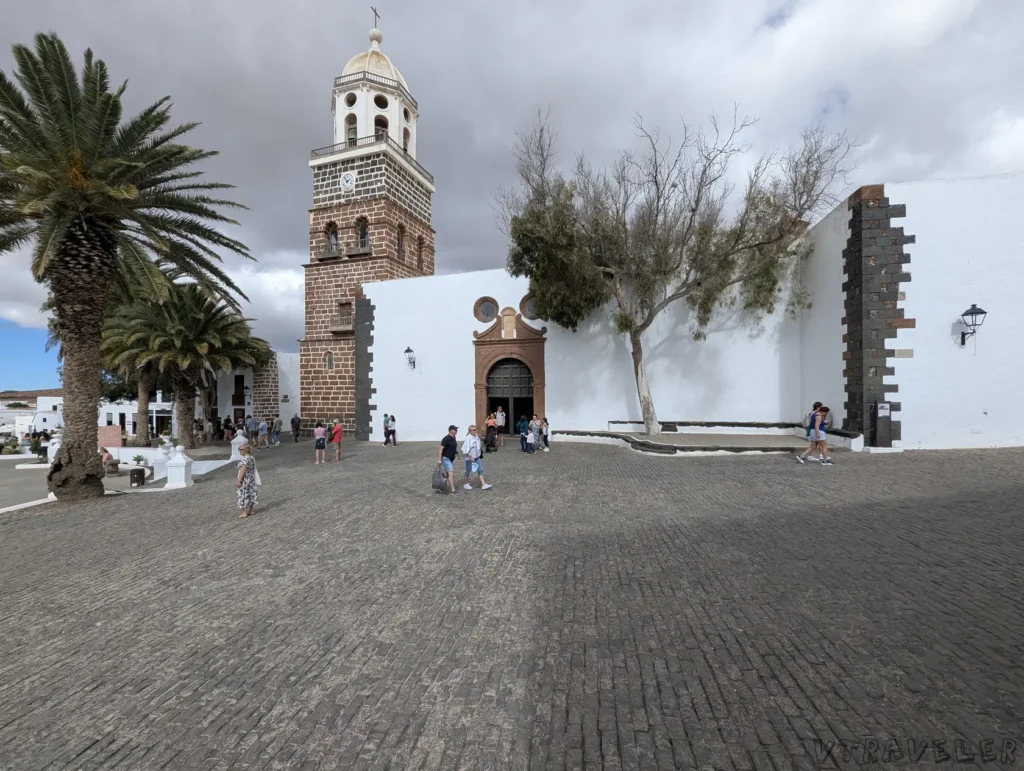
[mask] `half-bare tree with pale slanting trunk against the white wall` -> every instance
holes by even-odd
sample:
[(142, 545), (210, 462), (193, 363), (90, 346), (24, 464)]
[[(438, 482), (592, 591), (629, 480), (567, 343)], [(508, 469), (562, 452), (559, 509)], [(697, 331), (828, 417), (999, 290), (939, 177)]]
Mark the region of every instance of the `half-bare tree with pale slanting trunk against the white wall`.
[[(752, 124), (734, 121), (728, 131), (714, 119), (710, 131), (684, 124), (673, 147), (638, 118), (639, 152), (608, 168), (578, 157), (566, 177), (555, 166), (547, 117), (539, 116), (516, 145), (518, 186), (498, 195), (509, 272), (530, 280), (542, 318), (575, 331), (612, 303), (648, 434), (660, 427), (644, 333), (678, 301), (693, 311), (696, 340), (723, 306), (738, 304), (754, 317), (773, 312), (807, 254), (807, 219), (835, 203), (833, 186), (848, 171), (846, 136), (812, 127), (794, 148), (758, 159), (736, 192), (729, 170), (748, 151), (740, 137)], [(799, 291), (788, 300), (804, 301)]]

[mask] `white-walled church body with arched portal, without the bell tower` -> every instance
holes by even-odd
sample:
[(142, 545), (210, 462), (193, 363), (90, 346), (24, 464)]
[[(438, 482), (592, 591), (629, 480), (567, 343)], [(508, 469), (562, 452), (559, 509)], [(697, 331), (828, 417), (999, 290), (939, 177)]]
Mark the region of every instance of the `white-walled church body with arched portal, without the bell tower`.
[[(659, 418), (795, 423), (823, 401), (837, 426), (884, 444), (873, 431), (882, 402), (895, 446), (1024, 445), (1024, 416), (1011, 406), (1024, 369), (1008, 354), (1024, 330), (1024, 237), (1013, 218), (1022, 204), (1022, 174), (860, 188), (809, 231), (811, 307), (799, 319), (778, 313), (754, 327), (723, 312), (694, 342), (679, 303), (645, 334)], [(515, 417), (541, 410), (556, 430), (641, 420), (628, 341), (606, 312), (575, 334), (531, 320), (527, 282), (504, 270), (362, 291), (374, 436), (383, 413), (397, 416), (403, 439), (435, 440), (497, 403)], [(972, 305), (988, 313), (973, 335), (962, 318)], [(431, 323), (413, 320), (422, 318)]]

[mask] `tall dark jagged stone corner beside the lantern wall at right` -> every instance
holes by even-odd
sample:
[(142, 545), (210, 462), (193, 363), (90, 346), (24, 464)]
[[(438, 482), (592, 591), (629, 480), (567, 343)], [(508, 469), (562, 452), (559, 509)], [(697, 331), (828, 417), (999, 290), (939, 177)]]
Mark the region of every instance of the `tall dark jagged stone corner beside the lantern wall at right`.
[[(864, 445), (874, 446), (872, 410), (879, 401), (890, 401), (898, 393), (895, 383), (883, 382), (896, 374), (889, 361), (895, 357), (890, 341), (901, 329), (912, 329), (913, 318), (903, 316), (899, 307), (900, 285), (910, 281), (905, 266), (910, 255), (903, 251), (913, 244), (902, 227), (892, 220), (906, 216), (906, 206), (891, 204), (881, 184), (865, 185), (847, 201), (850, 211), (850, 238), (843, 250), (843, 283), (846, 294), (843, 324), (846, 334), (843, 353), (846, 378), (846, 420), (843, 428), (863, 434)], [(900, 404), (891, 401), (898, 413)], [(892, 439), (901, 438), (900, 422), (893, 416)]]

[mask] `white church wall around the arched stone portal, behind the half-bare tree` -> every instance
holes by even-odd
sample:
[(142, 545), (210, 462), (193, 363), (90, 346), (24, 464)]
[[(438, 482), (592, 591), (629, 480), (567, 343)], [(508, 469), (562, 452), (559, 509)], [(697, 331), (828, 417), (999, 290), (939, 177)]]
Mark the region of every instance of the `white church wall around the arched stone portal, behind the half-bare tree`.
[[(504, 270), (364, 285), (374, 304), (372, 438), (383, 413), (396, 414), (398, 440), (439, 439), (450, 423), (474, 420), (473, 316), (477, 299), (519, 307), (528, 282)], [(752, 327), (737, 313), (716, 318), (708, 340), (687, 333), (689, 313), (670, 309), (644, 338), (647, 374), (662, 420), (795, 421), (801, 413), (801, 326), (782, 313)], [(639, 420), (629, 343), (607, 313), (575, 334), (548, 328), (547, 417), (556, 429), (606, 430), (611, 420)], [(842, 333), (840, 333), (841, 335)], [(404, 350), (416, 354), (416, 369)], [(835, 365), (842, 369), (842, 361)]]

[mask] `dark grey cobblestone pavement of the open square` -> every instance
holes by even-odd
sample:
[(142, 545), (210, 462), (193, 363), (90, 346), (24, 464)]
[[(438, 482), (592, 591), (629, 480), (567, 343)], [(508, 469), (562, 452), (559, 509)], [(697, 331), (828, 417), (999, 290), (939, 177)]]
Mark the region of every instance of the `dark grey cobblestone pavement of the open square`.
[(433, 453), (4, 515), (0, 768), (1024, 766), (1024, 453)]

